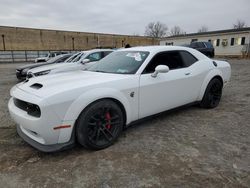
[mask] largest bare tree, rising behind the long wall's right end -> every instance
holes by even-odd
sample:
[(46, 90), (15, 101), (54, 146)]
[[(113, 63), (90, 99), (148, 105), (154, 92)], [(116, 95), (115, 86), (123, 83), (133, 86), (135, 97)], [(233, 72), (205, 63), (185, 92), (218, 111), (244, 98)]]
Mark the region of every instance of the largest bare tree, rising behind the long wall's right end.
[(145, 28), (145, 35), (154, 38), (162, 38), (167, 35), (168, 27), (161, 22), (150, 22)]

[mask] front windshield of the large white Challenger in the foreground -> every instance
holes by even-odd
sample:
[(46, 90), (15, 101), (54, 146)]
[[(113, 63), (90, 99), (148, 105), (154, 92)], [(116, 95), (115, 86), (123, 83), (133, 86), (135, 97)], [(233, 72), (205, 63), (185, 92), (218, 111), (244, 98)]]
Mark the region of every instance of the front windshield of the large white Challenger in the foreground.
[(106, 56), (87, 70), (115, 74), (134, 74), (148, 55), (149, 52), (142, 51), (117, 51)]

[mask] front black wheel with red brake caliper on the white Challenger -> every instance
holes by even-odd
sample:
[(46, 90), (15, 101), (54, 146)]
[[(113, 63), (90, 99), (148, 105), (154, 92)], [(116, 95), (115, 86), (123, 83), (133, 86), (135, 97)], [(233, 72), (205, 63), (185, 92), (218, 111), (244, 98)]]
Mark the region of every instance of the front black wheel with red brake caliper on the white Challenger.
[(76, 124), (77, 141), (88, 149), (104, 149), (119, 137), (124, 124), (121, 108), (105, 99), (89, 105)]

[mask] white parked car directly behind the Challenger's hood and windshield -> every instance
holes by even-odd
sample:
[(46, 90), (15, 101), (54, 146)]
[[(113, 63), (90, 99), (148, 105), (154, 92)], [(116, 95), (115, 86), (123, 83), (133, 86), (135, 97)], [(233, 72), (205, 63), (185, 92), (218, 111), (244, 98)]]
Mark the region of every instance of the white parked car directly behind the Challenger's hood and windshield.
[(64, 63), (46, 65), (30, 69), (27, 73), (27, 78), (87, 68), (93, 65), (96, 61), (101, 60), (111, 52), (113, 52), (113, 50), (111, 49), (95, 49), (79, 52), (77, 53), (77, 55), (75, 55), (74, 58), (71, 57)]

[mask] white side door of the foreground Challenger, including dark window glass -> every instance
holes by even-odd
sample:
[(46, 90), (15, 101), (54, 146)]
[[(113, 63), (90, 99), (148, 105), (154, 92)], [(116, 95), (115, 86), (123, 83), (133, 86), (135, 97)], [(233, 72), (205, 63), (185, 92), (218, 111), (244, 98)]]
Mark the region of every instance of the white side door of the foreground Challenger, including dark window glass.
[[(192, 66), (197, 59), (188, 52), (171, 51), (157, 54), (140, 77), (139, 117), (143, 118), (196, 100), (201, 85)], [(186, 62), (185, 62), (186, 61)], [(157, 65), (167, 65), (167, 73), (151, 74)]]

